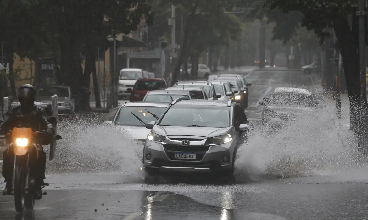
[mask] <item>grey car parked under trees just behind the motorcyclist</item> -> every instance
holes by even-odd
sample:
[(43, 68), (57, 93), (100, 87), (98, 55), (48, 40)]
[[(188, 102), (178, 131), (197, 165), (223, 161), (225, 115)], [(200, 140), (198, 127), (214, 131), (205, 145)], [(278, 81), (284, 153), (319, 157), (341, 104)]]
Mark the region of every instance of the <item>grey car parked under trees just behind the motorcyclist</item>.
[(40, 105), (51, 104), (51, 96), (57, 95), (57, 115), (72, 116), (78, 112), (78, 107), (75, 102), (76, 96), (72, 96), (69, 86), (42, 86), (38, 89), (36, 101)]

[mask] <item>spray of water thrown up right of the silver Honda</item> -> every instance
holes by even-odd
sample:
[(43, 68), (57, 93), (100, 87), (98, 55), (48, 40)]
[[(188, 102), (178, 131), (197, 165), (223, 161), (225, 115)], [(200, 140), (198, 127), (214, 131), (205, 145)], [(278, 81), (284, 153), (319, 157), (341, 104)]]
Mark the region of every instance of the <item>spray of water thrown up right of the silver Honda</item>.
[(239, 149), (237, 178), (280, 178), (328, 175), (362, 166), (353, 134), (338, 133), (333, 103), (314, 113), (304, 113), (287, 127), (257, 131)]

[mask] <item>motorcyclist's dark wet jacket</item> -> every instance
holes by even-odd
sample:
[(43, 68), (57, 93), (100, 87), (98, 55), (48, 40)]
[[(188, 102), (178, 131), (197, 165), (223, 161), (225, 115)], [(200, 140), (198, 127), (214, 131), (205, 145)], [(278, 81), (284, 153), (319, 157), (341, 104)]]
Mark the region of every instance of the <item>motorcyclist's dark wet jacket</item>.
[[(23, 116), (20, 119), (17, 116)], [(46, 111), (38, 106), (33, 106), (31, 111), (23, 112), (21, 106), (14, 106), (8, 109), (8, 112), (0, 117), (0, 132), (3, 129), (13, 129), (14, 127), (28, 127), (33, 131), (47, 130), (52, 124), (47, 121)], [(21, 124), (20, 124), (21, 123)]]

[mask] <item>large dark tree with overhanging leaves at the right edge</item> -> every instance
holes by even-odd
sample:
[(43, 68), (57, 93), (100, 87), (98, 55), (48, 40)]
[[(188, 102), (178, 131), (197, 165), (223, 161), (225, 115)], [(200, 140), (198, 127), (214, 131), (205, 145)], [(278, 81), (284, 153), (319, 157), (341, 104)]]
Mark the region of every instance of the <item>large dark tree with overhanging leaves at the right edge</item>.
[(360, 112), (366, 107), (366, 104), (361, 103), (357, 39), (350, 30), (348, 19), (356, 4), (357, 0), (263, 0), (262, 3), (263, 7), (270, 10), (278, 9), (284, 14), (300, 11), (304, 15), (302, 26), (314, 31), (321, 42), (331, 35), (329, 28), (333, 29), (342, 55), (350, 100), (350, 128), (354, 131), (359, 130)]

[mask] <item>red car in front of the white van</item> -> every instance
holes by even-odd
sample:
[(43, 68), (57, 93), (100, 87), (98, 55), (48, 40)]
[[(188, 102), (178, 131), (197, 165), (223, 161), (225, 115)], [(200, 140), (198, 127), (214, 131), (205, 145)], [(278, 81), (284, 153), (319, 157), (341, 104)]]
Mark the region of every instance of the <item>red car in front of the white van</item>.
[(167, 83), (163, 78), (138, 79), (133, 86), (129, 101), (142, 101), (148, 91), (166, 88)]

